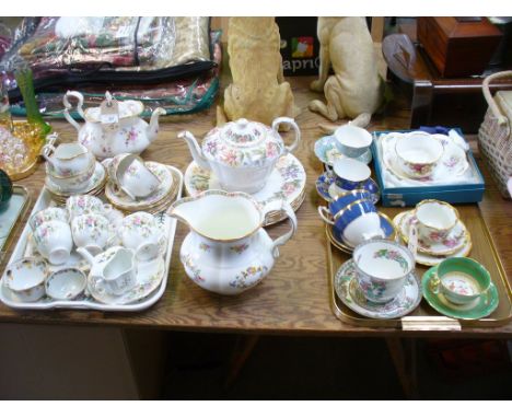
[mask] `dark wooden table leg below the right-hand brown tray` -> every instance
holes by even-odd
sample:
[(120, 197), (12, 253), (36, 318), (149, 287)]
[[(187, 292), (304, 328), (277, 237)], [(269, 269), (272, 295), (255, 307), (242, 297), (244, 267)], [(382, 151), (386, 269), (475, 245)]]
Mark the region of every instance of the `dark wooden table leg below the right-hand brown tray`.
[[(406, 397), (408, 399), (417, 399), (416, 339), (410, 338), (408, 341), (405, 341), (400, 338), (388, 337), (386, 338), (386, 344)], [(404, 344), (409, 345), (409, 359), (407, 358)]]

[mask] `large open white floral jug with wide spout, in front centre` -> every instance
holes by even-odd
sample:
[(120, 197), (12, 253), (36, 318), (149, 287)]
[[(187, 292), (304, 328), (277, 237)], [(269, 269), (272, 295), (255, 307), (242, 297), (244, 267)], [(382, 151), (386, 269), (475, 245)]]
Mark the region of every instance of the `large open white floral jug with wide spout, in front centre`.
[[(291, 229), (271, 240), (263, 229), (269, 211), (284, 210)], [(245, 193), (208, 190), (176, 201), (167, 211), (190, 228), (179, 257), (187, 276), (201, 288), (238, 294), (259, 283), (279, 257), (280, 245), (296, 231), (295, 213), (282, 200), (265, 208)]]

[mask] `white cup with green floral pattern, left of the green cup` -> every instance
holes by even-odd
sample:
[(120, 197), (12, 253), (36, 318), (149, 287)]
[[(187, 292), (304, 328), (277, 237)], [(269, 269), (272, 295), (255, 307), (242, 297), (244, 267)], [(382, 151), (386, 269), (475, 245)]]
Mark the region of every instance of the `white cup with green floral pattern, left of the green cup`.
[(353, 251), (357, 280), (364, 297), (375, 303), (393, 300), (414, 270), (410, 251), (394, 241), (371, 240)]

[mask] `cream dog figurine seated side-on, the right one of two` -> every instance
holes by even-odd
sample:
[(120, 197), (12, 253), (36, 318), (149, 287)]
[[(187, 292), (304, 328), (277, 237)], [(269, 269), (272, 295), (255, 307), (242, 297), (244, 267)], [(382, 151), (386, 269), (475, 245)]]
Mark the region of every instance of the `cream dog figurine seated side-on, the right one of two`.
[[(319, 77), (311, 89), (324, 91), (327, 104), (312, 101), (310, 111), (331, 121), (351, 118), (352, 124), (365, 127), (382, 103), (384, 83), (364, 18), (318, 18), (317, 35)], [(329, 77), (330, 65), (335, 74)], [(329, 133), (336, 129), (329, 124), (319, 126)]]

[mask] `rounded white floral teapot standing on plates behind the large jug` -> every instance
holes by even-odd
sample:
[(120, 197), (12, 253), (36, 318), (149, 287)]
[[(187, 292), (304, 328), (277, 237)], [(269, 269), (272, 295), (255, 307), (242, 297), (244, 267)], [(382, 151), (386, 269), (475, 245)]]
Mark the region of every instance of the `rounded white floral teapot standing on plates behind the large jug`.
[[(295, 132), (289, 147), (278, 133), (281, 124), (290, 125)], [(265, 186), (279, 158), (299, 146), (301, 130), (289, 117), (278, 117), (271, 128), (238, 119), (210, 130), (202, 141), (202, 149), (189, 131), (179, 132), (178, 138), (187, 141), (194, 161), (200, 167), (213, 171), (223, 189), (253, 194)]]

